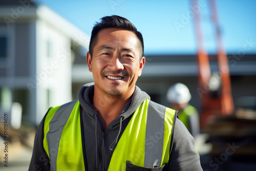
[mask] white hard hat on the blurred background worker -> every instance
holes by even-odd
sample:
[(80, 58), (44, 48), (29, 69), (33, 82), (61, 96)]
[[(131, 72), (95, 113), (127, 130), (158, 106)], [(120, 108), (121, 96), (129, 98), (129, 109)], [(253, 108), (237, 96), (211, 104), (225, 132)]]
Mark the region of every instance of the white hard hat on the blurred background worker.
[(188, 88), (183, 83), (175, 83), (169, 87), (167, 91), (168, 102), (173, 103), (186, 103), (191, 99), (191, 94)]

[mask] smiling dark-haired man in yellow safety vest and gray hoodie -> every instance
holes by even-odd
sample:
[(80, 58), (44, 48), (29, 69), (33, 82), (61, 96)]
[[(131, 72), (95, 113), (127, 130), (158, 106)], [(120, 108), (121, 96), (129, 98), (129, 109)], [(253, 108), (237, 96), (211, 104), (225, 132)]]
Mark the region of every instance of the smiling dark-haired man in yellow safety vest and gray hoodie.
[(202, 170), (178, 112), (135, 86), (145, 64), (140, 32), (106, 16), (92, 30), (94, 83), (50, 108), (36, 133), (29, 170)]

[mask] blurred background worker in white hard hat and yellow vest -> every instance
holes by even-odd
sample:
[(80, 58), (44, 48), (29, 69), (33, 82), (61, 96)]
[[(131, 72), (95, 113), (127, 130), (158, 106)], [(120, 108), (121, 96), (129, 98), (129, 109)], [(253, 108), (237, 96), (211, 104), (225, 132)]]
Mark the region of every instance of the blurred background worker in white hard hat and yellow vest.
[(190, 99), (191, 94), (183, 83), (175, 83), (167, 91), (167, 100), (171, 108), (179, 111), (179, 119), (195, 138), (200, 132), (199, 114), (197, 109), (189, 104)]

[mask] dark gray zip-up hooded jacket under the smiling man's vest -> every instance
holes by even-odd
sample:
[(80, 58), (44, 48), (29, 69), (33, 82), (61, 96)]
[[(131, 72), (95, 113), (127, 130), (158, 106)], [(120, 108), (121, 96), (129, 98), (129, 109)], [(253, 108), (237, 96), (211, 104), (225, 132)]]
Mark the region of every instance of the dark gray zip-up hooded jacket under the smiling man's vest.
[[(82, 116), (82, 141), (85, 149), (84, 164), (86, 170), (107, 170), (109, 163), (126, 125), (129, 123), (133, 113), (146, 99), (150, 99), (145, 92), (138, 87), (135, 88), (132, 99), (124, 106), (120, 115), (114, 119), (103, 132), (102, 124), (93, 110), (94, 85), (84, 85), (79, 93)], [(105, 104), (102, 103), (102, 107)], [(121, 127), (121, 130), (119, 128)], [(44, 119), (38, 126), (33, 155), (29, 170), (50, 170), (49, 158), (43, 147)], [(173, 132), (173, 147), (169, 156), (167, 170), (202, 170), (199, 155), (195, 151), (194, 138), (189, 134), (184, 124), (176, 119)], [(172, 144), (171, 144), (172, 145)]]

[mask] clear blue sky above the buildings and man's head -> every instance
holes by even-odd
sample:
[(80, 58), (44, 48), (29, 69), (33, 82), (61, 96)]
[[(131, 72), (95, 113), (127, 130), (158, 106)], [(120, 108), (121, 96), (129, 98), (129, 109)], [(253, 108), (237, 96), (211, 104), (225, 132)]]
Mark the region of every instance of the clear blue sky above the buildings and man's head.
[[(129, 19), (142, 33), (145, 54), (195, 54), (197, 52), (190, 0), (38, 0), (91, 34), (95, 22), (106, 15)], [(216, 52), (209, 3), (199, 0), (205, 48)], [(256, 1), (219, 0), (218, 15), (224, 48), (231, 53), (256, 53)], [(191, 17), (192, 16), (192, 17)]]

